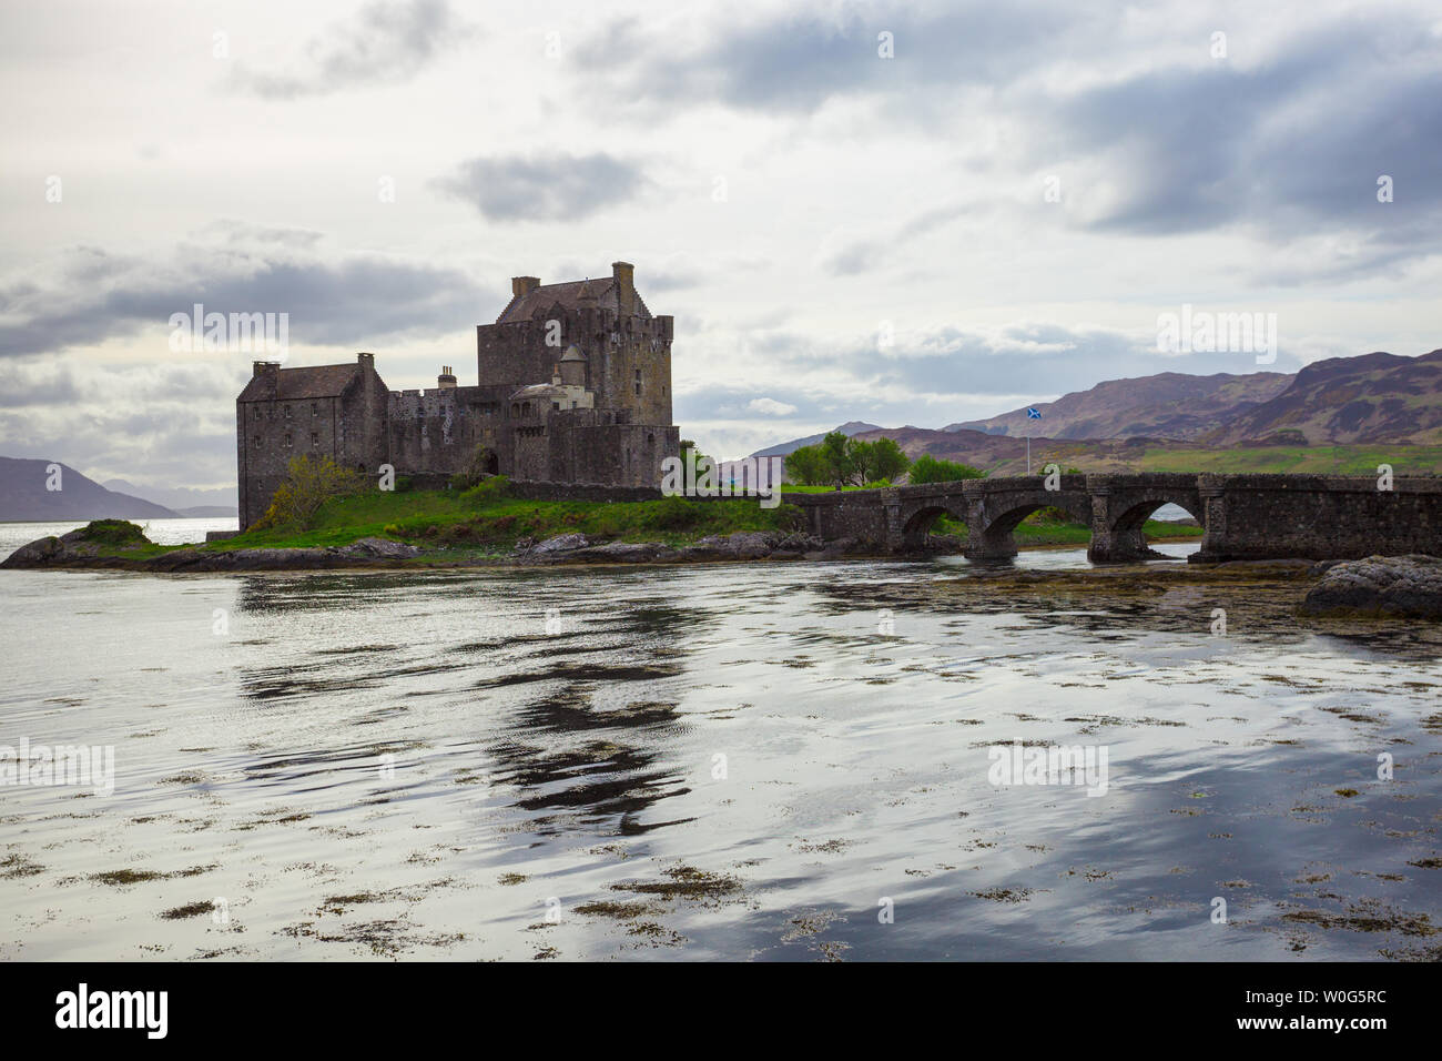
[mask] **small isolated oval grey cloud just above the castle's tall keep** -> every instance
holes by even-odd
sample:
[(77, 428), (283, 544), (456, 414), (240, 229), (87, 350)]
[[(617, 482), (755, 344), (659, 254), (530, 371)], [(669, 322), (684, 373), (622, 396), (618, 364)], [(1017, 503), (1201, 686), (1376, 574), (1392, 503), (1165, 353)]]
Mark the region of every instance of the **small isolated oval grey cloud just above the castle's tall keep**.
[(574, 221), (633, 199), (640, 169), (606, 153), (477, 157), (435, 186), (492, 221)]

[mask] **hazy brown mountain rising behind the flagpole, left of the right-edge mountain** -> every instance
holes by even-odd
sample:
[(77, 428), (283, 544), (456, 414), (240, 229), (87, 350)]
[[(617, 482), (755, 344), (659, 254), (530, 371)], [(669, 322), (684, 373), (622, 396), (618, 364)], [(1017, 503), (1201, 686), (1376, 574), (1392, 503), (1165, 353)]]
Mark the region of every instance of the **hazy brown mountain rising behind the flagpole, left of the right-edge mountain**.
[(1092, 390), (1037, 403), (1041, 420), (1031, 420), (1025, 409), (1017, 409), (988, 420), (949, 424), (942, 430), (1018, 436), (1045, 432), (1054, 439), (1197, 439), (1275, 398), (1292, 380), (1283, 372), (1158, 372), (1135, 380), (1107, 380)]

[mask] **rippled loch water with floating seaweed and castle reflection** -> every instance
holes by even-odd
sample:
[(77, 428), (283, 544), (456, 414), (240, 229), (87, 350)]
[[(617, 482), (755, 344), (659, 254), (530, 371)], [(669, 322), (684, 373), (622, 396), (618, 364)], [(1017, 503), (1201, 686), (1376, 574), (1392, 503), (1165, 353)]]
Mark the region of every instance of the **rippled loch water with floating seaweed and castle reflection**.
[[(114, 749), (110, 794), (0, 787), (3, 959), (1442, 944), (1442, 635), (1306, 622), (1289, 585), (1022, 593), (937, 559), (0, 593), (0, 745)], [(1014, 745), (1105, 749), (1105, 793), (998, 784)]]

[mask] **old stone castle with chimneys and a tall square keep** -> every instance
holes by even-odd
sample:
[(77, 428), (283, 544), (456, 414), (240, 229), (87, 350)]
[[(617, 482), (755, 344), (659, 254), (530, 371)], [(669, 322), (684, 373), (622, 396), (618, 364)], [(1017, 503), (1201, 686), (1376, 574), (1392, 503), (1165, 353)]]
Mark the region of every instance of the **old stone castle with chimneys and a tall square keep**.
[(673, 322), (652, 316), (633, 266), (555, 284), (518, 276), (510, 292), (496, 322), (476, 326), (474, 387), (444, 367), (434, 390), (392, 391), (373, 354), (310, 368), (257, 361), (235, 400), (241, 530), (306, 453), (427, 484), (480, 463), (523, 481), (659, 485), (662, 460), (681, 452)]

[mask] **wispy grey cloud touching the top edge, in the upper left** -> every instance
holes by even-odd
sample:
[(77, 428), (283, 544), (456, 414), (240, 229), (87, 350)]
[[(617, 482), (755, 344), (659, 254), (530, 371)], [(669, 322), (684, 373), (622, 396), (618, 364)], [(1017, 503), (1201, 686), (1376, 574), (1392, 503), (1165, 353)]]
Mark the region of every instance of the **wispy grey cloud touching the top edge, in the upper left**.
[(296, 100), (356, 85), (404, 82), (470, 32), (446, 0), (376, 0), (362, 7), (353, 22), (307, 40), (306, 69), (265, 74), (238, 64), (232, 84), (265, 100)]

